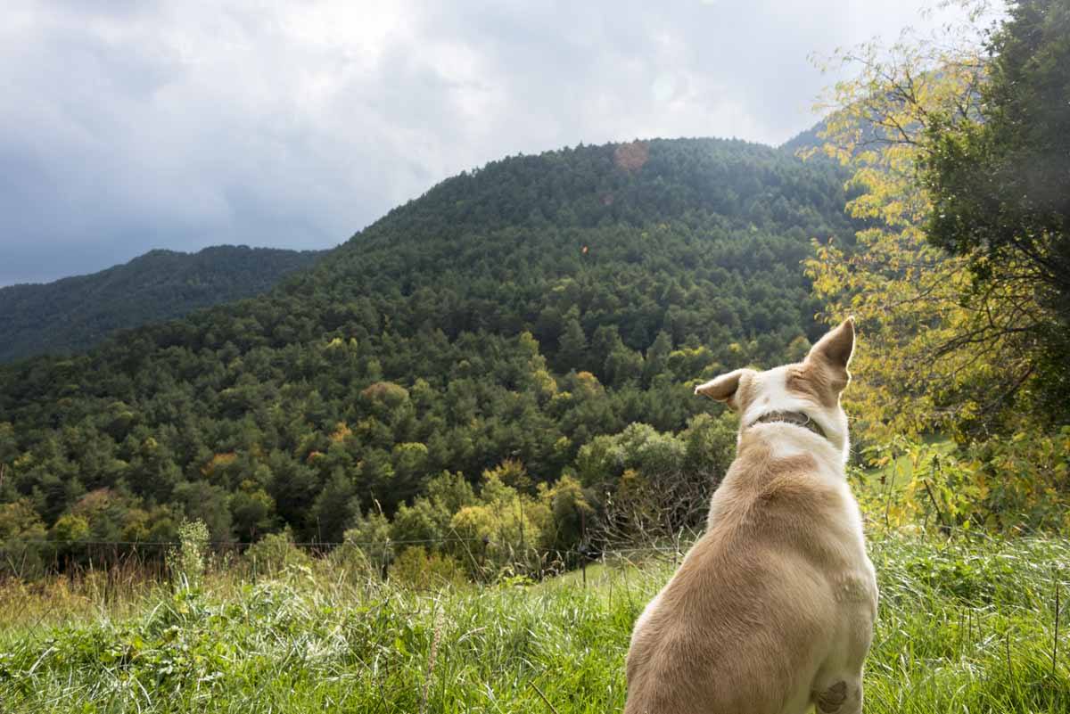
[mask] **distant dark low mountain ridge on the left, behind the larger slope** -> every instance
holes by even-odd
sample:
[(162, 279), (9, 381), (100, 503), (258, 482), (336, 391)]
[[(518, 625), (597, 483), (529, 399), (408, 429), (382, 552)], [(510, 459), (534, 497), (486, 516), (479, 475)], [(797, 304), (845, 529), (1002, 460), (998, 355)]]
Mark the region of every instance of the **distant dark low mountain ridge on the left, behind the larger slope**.
[(153, 250), (92, 275), (0, 288), (0, 361), (79, 352), (117, 329), (251, 297), (319, 255), (246, 246)]

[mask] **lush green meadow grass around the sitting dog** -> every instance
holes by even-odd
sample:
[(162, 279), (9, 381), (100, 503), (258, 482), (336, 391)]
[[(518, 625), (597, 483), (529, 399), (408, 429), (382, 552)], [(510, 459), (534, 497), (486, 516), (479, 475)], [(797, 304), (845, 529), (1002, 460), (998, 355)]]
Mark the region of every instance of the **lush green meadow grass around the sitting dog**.
[[(1070, 711), (1070, 544), (871, 546), (882, 601), (867, 712)], [(591, 566), (585, 587), (572, 573), (414, 591), (318, 564), (110, 601), (9, 584), (0, 711), (618, 711), (632, 622), (671, 572), (648, 560)]]

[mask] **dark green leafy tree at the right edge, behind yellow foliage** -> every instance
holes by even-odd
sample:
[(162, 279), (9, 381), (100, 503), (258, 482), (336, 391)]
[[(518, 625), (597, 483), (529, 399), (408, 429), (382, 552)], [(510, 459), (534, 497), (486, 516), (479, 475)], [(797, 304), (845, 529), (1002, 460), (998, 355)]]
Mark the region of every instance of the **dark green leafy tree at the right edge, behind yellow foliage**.
[(1070, 3), (1018, 0), (1008, 13), (978, 113), (929, 126), (927, 233), (969, 262), (976, 291), (1014, 300), (985, 327), (1042, 345), (1030, 368), (1058, 421), (1070, 417)]

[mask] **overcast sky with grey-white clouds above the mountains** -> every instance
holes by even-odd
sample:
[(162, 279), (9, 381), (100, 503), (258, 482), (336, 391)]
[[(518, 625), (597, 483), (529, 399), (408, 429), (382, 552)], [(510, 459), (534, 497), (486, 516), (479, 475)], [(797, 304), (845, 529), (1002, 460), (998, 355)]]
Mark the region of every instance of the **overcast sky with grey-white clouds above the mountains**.
[(517, 153), (777, 144), (810, 62), (929, 0), (6, 0), (0, 285), (152, 248), (327, 248)]

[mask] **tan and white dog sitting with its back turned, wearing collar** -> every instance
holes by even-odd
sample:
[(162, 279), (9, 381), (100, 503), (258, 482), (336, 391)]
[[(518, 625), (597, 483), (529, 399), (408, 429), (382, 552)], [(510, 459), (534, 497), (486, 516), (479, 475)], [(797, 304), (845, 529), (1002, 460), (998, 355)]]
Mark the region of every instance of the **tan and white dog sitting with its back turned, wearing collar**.
[(706, 532), (636, 622), (625, 714), (857, 714), (876, 581), (843, 472), (854, 322), (694, 391), (739, 413)]

